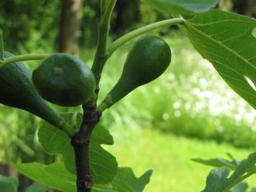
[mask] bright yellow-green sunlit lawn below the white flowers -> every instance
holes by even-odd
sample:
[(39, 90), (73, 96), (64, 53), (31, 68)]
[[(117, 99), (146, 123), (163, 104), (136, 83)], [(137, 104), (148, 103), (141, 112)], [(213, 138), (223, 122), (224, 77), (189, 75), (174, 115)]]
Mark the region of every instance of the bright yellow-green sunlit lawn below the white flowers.
[[(117, 128), (112, 131), (114, 146), (108, 146), (107, 149), (117, 157), (119, 166), (132, 167), (137, 176), (153, 169), (146, 192), (201, 191), (210, 167), (190, 161), (191, 158), (226, 157), (225, 153), (229, 152), (240, 160), (252, 152), (212, 141), (176, 137), (152, 129), (123, 129), (116, 132)], [(252, 176), (247, 181), (255, 183), (254, 179), (255, 176)]]

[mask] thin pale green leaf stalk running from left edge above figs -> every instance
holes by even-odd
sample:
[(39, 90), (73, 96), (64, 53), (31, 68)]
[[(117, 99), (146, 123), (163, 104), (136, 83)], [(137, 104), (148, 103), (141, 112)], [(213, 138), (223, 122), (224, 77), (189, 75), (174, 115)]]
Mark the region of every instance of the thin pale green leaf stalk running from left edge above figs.
[(43, 60), (49, 55), (50, 54), (20, 54), (17, 56), (5, 58), (3, 61), (0, 61), (0, 66), (17, 61)]

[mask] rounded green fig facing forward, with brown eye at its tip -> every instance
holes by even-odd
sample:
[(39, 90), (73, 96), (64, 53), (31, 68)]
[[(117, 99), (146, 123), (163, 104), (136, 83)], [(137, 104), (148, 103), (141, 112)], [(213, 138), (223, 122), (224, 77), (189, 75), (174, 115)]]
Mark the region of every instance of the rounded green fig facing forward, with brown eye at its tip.
[(48, 102), (76, 106), (95, 98), (95, 76), (83, 61), (69, 54), (51, 54), (32, 73), (39, 94)]

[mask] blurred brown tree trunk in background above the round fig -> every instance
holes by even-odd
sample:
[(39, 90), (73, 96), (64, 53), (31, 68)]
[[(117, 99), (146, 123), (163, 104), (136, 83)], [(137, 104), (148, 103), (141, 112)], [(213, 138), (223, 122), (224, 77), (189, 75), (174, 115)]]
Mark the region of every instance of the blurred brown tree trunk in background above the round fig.
[(83, 0), (62, 0), (58, 51), (78, 55)]

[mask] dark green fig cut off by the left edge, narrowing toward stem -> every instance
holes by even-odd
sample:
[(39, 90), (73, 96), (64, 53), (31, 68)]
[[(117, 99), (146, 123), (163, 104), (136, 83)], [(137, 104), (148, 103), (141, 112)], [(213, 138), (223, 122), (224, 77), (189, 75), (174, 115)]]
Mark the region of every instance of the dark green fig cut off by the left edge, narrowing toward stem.
[[(11, 56), (13, 54), (4, 52), (4, 57)], [(69, 126), (37, 93), (23, 63), (13, 62), (0, 67), (0, 90), (0, 103), (24, 109), (61, 129)]]

